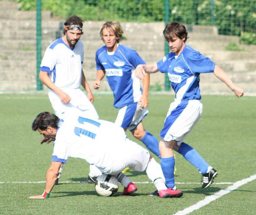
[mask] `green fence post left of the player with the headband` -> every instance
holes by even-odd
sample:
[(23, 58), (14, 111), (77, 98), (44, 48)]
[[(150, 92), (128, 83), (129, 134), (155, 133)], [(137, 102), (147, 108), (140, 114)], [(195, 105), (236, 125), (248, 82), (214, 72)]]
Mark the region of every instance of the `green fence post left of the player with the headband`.
[(43, 90), (43, 84), (39, 80), (41, 50), (42, 50), (42, 32), (41, 32), (41, 0), (36, 0), (36, 90)]

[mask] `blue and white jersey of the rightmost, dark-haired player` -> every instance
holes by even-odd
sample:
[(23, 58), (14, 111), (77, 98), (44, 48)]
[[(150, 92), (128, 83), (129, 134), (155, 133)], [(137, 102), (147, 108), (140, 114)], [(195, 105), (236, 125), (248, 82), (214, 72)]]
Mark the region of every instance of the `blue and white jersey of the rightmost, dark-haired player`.
[(179, 56), (169, 53), (157, 62), (157, 68), (161, 73), (168, 73), (175, 98), (200, 100), (199, 75), (212, 73), (215, 63), (185, 45)]

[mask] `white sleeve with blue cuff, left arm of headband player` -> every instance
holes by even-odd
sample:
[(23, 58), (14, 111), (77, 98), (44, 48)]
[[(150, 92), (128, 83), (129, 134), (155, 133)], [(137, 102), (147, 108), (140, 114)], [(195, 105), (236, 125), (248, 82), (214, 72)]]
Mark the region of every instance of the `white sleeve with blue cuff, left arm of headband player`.
[(55, 54), (55, 51), (47, 48), (44, 53), (44, 58), (41, 62), (41, 69), (44, 72), (51, 73), (54, 66), (57, 64), (58, 56)]

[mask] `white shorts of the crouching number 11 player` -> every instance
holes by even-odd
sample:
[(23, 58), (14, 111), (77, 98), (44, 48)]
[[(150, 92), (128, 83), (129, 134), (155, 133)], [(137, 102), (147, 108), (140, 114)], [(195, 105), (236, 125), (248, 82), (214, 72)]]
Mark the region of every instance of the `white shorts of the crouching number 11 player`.
[(94, 165), (102, 173), (111, 175), (121, 173), (126, 167), (143, 172), (147, 168), (149, 158), (148, 150), (126, 138), (122, 148), (119, 148), (115, 155), (106, 157), (106, 160), (103, 160), (101, 165), (97, 163)]

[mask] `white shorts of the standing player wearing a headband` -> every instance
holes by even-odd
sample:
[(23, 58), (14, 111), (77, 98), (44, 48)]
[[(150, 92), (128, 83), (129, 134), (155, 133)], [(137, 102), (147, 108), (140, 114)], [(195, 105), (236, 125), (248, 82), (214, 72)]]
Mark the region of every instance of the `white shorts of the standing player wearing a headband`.
[(65, 112), (67, 108), (77, 108), (87, 113), (88, 117), (93, 119), (99, 119), (97, 111), (95, 110), (94, 106), (89, 101), (87, 96), (82, 92), (82, 90), (78, 88), (78, 89), (63, 89), (63, 91), (67, 93), (68, 96), (71, 98), (68, 104), (61, 102), (60, 97), (52, 90), (49, 90), (49, 93), (48, 93), (50, 102), (52, 104), (52, 108), (56, 116), (60, 118), (61, 113)]

